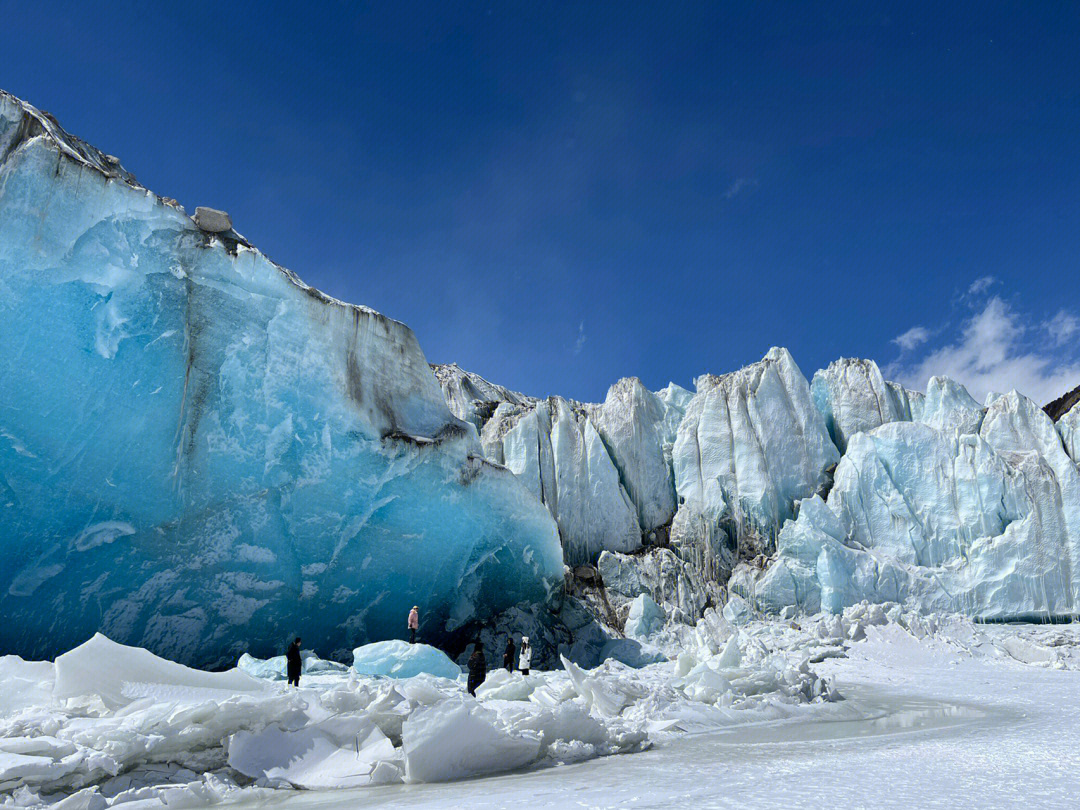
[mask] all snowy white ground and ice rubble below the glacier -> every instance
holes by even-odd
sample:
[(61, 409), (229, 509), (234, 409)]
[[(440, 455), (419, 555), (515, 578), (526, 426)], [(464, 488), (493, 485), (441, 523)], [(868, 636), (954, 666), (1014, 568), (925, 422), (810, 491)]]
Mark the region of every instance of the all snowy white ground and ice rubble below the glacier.
[(201, 673), (100, 637), (8, 657), (0, 804), (1031, 808), (1080, 788), (1076, 625), (856, 607), (711, 613), (683, 643), (642, 670), (496, 671), (477, 700), (315, 659), (291, 690), (279, 662)]

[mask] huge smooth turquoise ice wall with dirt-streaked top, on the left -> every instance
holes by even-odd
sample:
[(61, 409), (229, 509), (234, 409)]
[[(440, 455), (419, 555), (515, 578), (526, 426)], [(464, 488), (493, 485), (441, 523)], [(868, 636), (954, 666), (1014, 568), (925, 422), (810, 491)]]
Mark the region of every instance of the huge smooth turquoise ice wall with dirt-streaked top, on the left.
[(562, 582), (413, 333), (270, 262), (0, 95), (0, 648), (100, 630), (225, 664), (347, 657)]

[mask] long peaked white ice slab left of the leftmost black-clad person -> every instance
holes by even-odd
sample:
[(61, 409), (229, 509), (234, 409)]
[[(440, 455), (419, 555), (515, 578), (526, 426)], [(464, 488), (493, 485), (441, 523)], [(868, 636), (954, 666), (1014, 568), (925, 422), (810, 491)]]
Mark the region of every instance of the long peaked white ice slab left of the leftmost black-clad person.
[(58, 700), (97, 696), (110, 708), (141, 698), (198, 701), (262, 694), (268, 685), (245, 672), (202, 672), (126, 647), (96, 633), (56, 659), (53, 696)]

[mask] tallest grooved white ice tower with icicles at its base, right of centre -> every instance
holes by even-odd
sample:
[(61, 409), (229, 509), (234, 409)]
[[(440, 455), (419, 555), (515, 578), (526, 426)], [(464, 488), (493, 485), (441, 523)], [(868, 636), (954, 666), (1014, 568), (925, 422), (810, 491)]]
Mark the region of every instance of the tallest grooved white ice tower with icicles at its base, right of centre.
[(725, 581), (741, 551), (771, 549), (795, 504), (828, 486), (839, 457), (787, 350), (699, 378), (673, 451), (673, 545)]

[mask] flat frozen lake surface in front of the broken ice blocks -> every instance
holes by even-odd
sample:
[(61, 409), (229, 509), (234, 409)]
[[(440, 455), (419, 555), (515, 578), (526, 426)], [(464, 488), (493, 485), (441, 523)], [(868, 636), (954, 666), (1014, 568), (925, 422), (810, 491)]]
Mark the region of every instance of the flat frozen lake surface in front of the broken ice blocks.
[[(1014, 631), (1001, 631), (1011, 633)], [(1072, 630), (1064, 631), (1075, 636)], [(288, 793), (300, 808), (1065, 808), (1080, 795), (1080, 673), (870, 634), (820, 669), (858, 718), (686, 735), (640, 754), (444, 784)]]

